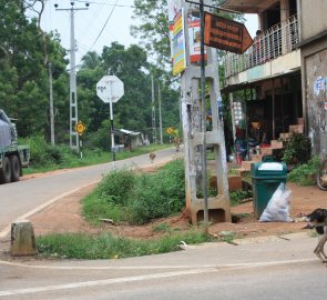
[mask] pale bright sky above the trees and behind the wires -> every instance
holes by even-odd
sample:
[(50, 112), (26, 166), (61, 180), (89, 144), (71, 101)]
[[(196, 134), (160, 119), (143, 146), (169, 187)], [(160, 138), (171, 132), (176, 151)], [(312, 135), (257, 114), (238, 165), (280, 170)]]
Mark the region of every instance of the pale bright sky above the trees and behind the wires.
[[(43, 30), (48, 32), (57, 30), (60, 33), (61, 44), (65, 49), (70, 49), (70, 11), (57, 11), (54, 4), (58, 4), (58, 9), (70, 9), (70, 2), (72, 1), (48, 0), (41, 23)], [(133, 0), (78, 0), (73, 2), (74, 8), (85, 8), (85, 2), (90, 2), (88, 10), (75, 12), (76, 66), (81, 63), (86, 52), (101, 53), (104, 46), (110, 46), (114, 41), (126, 47), (139, 43), (139, 40), (130, 34), (131, 24), (137, 23), (137, 20), (132, 19)], [(245, 18), (247, 30), (254, 37), (258, 29), (257, 17), (245, 14)]]

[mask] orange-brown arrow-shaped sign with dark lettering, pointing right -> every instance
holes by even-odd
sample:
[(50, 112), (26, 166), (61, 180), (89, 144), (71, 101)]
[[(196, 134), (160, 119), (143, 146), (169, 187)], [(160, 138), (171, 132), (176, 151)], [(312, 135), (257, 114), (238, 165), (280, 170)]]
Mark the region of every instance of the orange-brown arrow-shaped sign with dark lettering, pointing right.
[(204, 43), (242, 54), (253, 44), (246, 27), (222, 17), (205, 12)]

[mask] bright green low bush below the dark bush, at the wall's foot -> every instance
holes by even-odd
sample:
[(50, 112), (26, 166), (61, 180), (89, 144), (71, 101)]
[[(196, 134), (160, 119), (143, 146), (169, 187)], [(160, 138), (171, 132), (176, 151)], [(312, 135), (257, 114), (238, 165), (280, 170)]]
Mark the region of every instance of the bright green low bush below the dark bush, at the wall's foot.
[(315, 174), (318, 172), (319, 164), (319, 158), (317, 156), (311, 157), (307, 163), (300, 164), (292, 170), (288, 174), (289, 181), (300, 186), (316, 184)]

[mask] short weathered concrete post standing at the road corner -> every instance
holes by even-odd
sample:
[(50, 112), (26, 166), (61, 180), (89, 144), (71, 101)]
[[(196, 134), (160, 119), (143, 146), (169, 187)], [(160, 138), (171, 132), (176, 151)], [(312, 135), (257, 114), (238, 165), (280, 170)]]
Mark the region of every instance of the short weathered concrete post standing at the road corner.
[(38, 253), (33, 226), (28, 220), (11, 223), (10, 254), (12, 257)]

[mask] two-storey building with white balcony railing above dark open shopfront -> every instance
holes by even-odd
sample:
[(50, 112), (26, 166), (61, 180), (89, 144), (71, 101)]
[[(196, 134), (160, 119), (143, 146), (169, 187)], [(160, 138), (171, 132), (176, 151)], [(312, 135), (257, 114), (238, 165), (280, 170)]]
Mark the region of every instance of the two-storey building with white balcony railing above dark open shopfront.
[(258, 16), (253, 46), (243, 54), (226, 54), (222, 91), (231, 100), (234, 138), (269, 143), (269, 153), (280, 148), (277, 139), (304, 130), (298, 3), (226, 0), (222, 7)]

